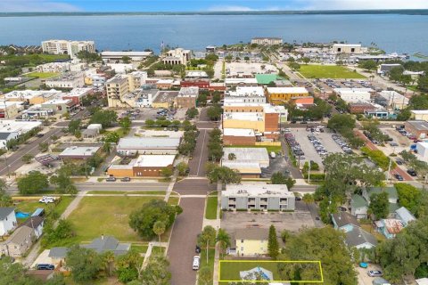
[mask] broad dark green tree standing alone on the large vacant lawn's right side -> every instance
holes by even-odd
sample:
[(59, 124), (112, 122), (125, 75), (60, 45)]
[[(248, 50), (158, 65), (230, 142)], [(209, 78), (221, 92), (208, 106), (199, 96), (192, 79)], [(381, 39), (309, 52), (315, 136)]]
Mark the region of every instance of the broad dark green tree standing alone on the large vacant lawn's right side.
[(129, 215), (129, 225), (141, 237), (151, 239), (156, 235), (153, 232), (153, 225), (157, 221), (163, 222), (165, 229), (169, 229), (174, 223), (176, 215), (182, 212), (183, 209), (179, 206), (171, 206), (163, 200), (152, 199), (145, 203), (142, 208), (134, 210)]

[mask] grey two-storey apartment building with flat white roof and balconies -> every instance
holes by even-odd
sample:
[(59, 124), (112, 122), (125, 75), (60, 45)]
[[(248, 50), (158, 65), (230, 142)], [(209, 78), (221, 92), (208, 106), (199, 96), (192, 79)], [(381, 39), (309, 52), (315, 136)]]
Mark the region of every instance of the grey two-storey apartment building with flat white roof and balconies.
[(243, 183), (227, 184), (221, 192), (221, 208), (226, 210), (293, 211), (294, 193), (286, 185)]

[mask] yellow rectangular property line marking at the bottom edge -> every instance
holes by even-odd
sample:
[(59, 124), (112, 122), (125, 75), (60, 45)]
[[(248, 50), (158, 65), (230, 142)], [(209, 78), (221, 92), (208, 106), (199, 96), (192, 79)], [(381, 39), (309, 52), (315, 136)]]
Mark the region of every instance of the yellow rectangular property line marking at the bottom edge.
[(324, 273), (323, 267), (321, 266), (320, 260), (219, 260), (218, 266), (218, 276), (219, 282), (254, 282), (255, 280), (221, 280), (221, 264), (222, 263), (286, 263), (286, 264), (318, 264), (319, 272), (321, 273), (321, 280), (300, 280), (300, 281), (292, 281), (292, 280), (269, 280), (269, 281), (257, 281), (260, 283), (269, 283), (269, 282), (295, 282), (295, 283), (324, 283)]

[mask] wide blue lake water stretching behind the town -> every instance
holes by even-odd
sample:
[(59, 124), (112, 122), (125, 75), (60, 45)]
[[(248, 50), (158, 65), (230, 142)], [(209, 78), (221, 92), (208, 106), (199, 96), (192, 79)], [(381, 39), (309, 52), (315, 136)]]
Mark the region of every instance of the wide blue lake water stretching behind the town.
[(285, 42), (372, 42), (392, 53), (428, 54), (428, 16), (350, 15), (109, 15), (0, 17), (0, 45), (42, 40), (95, 40), (98, 50), (159, 51), (165, 45), (207, 45), (282, 37)]

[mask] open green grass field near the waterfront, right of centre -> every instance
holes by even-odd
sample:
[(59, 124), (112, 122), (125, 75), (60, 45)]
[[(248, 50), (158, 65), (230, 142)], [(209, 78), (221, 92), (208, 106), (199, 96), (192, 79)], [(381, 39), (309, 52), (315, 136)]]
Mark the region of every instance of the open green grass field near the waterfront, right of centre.
[(358, 72), (337, 65), (301, 65), (299, 72), (307, 78), (366, 78)]

